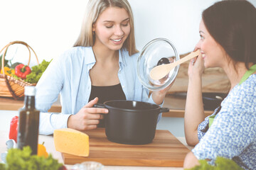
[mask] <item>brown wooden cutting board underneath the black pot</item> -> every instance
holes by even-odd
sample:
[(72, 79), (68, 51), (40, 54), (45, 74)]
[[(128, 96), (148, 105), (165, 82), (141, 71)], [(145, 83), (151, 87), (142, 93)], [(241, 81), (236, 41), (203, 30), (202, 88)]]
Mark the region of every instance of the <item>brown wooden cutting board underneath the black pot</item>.
[(146, 145), (123, 145), (107, 140), (105, 128), (85, 131), (89, 135), (89, 157), (63, 153), (64, 164), (100, 162), (115, 166), (173, 166), (182, 167), (190, 151), (168, 130), (156, 130), (153, 142)]

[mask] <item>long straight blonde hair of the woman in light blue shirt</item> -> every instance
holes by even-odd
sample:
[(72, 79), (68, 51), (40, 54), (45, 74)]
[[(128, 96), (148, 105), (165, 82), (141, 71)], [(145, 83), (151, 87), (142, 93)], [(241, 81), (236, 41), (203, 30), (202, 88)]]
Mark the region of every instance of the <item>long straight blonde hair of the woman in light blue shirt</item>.
[(78, 40), (75, 42), (74, 47), (90, 47), (94, 45), (95, 37), (92, 34), (92, 25), (97, 21), (100, 14), (108, 7), (124, 8), (129, 14), (129, 24), (131, 26), (131, 30), (122, 48), (126, 49), (129, 52), (129, 55), (137, 53), (138, 50), (136, 49), (134, 38), (134, 18), (132, 8), (127, 0), (89, 0), (85, 11), (85, 16), (82, 21), (80, 35)]

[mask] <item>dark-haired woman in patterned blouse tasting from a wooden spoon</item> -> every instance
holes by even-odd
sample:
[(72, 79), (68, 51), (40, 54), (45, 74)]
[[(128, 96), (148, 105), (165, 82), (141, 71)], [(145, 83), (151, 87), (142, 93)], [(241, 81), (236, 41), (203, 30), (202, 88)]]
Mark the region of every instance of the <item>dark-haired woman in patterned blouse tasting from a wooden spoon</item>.
[[(256, 8), (242, 0), (217, 2), (203, 11), (199, 33), (201, 55), (188, 67), (184, 117), (186, 142), (196, 147), (184, 167), (225, 157), (243, 169), (256, 169)], [(223, 68), (231, 84), (210, 128), (201, 85), (203, 69), (209, 67)]]

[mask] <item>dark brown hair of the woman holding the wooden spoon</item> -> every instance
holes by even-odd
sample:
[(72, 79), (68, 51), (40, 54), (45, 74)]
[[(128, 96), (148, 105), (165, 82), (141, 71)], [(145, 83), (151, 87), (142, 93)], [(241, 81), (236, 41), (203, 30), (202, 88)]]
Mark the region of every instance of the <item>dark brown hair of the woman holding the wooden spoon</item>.
[(245, 0), (219, 1), (202, 14), (210, 35), (230, 56), (233, 64), (256, 64), (256, 8)]

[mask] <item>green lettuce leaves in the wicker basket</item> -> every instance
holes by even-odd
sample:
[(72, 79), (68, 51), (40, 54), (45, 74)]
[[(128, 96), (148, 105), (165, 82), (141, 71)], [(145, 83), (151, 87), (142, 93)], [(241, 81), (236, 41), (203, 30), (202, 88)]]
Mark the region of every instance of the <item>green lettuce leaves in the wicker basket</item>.
[(31, 84), (36, 84), (41, 78), (43, 72), (46, 71), (46, 68), (48, 67), (50, 62), (46, 62), (46, 60), (43, 60), (43, 62), (41, 62), (40, 64), (31, 67), (31, 74), (28, 74), (26, 76), (25, 81)]

